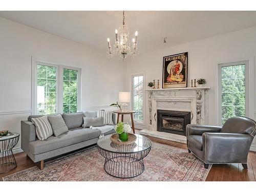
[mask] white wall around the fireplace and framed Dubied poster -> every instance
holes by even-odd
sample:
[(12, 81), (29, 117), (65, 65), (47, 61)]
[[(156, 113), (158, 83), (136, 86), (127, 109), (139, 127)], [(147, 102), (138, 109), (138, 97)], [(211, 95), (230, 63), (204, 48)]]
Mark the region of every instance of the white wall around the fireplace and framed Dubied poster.
[[(210, 87), (209, 124), (217, 124), (217, 103), (215, 101), (215, 92), (217, 91), (215, 89), (217, 83), (217, 63), (253, 58), (256, 55), (255, 34), (256, 27), (199, 41), (188, 42), (174, 47), (171, 47), (172, 45), (163, 44), (163, 48), (165, 48), (162, 50), (140, 55), (136, 59), (127, 60), (125, 65), (125, 90), (129, 91), (131, 89), (131, 73), (140, 71), (145, 71), (146, 84), (149, 81), (153, 81), (153, 79), (160, 79), (160, 85), (162, 86), (163, 56), (188, 52), (188, 87), (190, 87), (190, 79), (205, 78), (207, 80), (207, 86)], [(254, 71), (255, 69), (254, 62)], [(256, 74), (256, 72), (254, 72), (254, 74)], [(256, 93), (255, 81), (256, 78), (254, 78), (254, 93)], [(147, 101), (145, 101), (145, 103), (147, 110)], [(254, 102), (254, 119), (256, 119), (256, 102)], [(147, 124), (148, 116), (146, 114), (146, 126)]]

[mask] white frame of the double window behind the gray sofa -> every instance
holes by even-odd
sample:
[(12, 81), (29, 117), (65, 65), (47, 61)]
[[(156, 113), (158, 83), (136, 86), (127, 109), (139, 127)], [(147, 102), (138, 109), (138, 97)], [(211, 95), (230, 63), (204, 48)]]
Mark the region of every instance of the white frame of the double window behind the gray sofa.
[(36, 62), (45, 63), (46, 66), (56, 67), (56, 113), (63, 113), (63, 69), (76, 70), (77, 77), (77, 111), (81, 109), (81, 69), (69, 66), (58, 65), (49, 62), (46, 59), (32, 56), (32, 114), (37, 114), (37, 64)]

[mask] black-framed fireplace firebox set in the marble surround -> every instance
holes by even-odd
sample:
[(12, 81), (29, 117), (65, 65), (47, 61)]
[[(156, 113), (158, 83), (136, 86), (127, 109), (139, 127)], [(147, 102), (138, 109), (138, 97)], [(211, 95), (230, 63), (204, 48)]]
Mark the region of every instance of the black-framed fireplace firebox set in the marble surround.
[(157, 131), (186, 136), (190, 112), (157, 110)]

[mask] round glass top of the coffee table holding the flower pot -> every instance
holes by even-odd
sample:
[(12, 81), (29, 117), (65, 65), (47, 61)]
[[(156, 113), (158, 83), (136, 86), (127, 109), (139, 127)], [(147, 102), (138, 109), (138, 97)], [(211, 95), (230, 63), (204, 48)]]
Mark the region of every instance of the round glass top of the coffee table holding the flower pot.
[(143, 152), (151, 147), (151, 140), (138, 134), (136, 135), (137, 139), (132, 144), (124, 144), (124, 145), (118, 145), (116, 143), (113, 143), (110, 140), (111, 135), (106, 135), (102, 138), (100, 138), (97, 142), (98, 147), (100, 147), (102, 150), (113, 152), (113, 153), (137, 153), (137, 152)]

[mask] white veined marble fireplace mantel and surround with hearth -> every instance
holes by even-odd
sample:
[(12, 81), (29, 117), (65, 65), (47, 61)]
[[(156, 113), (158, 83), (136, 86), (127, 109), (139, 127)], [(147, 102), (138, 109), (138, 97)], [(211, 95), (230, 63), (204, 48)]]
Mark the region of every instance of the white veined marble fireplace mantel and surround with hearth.
[(148, 89), (148, 129), (141, 134), (185, 143), (186, 137), (157, 131), (157, 110), (188, 111), (191, 124), (208, 123), (208, 87)]

